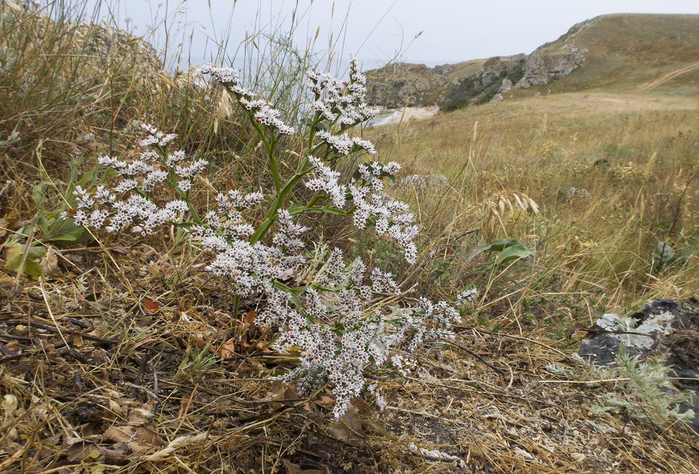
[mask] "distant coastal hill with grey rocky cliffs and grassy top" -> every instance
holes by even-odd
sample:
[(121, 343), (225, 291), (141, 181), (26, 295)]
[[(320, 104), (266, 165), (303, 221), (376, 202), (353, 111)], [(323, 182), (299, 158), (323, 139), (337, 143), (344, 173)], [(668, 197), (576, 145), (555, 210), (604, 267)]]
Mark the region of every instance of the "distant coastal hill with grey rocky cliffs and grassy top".
[[(466, 67), (468, 66), (468, 67)], [(531, 54), (370, 71), (375, 103), (456, 108), (537, 92), (699, 92), (699, 15), (620, 13), (575, 24)]]

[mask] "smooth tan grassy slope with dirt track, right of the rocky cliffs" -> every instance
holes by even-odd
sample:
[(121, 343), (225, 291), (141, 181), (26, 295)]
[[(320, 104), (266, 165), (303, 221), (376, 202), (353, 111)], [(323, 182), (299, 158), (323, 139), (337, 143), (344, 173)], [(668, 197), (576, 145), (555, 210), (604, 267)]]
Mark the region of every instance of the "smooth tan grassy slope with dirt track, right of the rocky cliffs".
[[(602, 15), (576, 24), (540, 49), (554, 53), (563, 45), (589, 50), (584, 64), (561, 80), (519, 94), (547, 89), (632, 92), (645, 82), (698, 64), (699, 15)], [(678, 75), (671, 87), (658, 87), (672, 93), (694, 94), (699, 91), (699, 70)]]

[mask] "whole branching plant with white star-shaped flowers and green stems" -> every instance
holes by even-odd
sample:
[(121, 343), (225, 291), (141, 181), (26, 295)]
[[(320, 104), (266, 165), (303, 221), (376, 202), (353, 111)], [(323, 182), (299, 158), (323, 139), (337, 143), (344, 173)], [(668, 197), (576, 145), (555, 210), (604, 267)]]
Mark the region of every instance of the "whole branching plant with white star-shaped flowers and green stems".
[[(259, 135), (274, 189), (268, 195), (219, 192), (215, 209), (199, 214), (190, 193), (195, 177), (208, 163), (190, 160), (181, 150), (171, 151), (175, 135), (143, 124), (147, 137), (138, 142), (143, 151), (137, 159), (99, 158), (101, 165), (117, 171), (120, 181), (112, 188), (76, 187), (76, 209), (64, 217), (107, 232), (131, 230), (147, 235), (161, 225), (187, 230), (194, 241), (215, 255), (206, 271), (231, 282), (233, 316), (237, 316), (242, 297), (264, 297), (257, 324), (276, 330), (275, 348), (293, 348), (300, 353), (298, 367), (280, 378), (300, 380), (301, 390), (330, 383), (336, 397), (336, 418), (347, 410), (350, 399), (365, 389), (383, 406), (376, 386), (364, 378), (365, 371), (387, 366), (404, 371), (410, 362), (394, 349), (405, 345), (412, 351), (428, 339), (449, 336), (449, 327), (460, 320), (455, 306), (426, 299), (403, 309), (372, 304), (377, 293), (397, 292), (393, 276), (378, 268), (368, 272), (360, 259), (347, 262), (340, 249), (329, 252), (324, 265), (315, 269), (305, 285), (283, 283), (288, 281), (284, 276), (289, 270), (308, 265), (303, 242), (308, 228), (298, 222), (310, 213), (352, 217), (357, 228), (373, 227), (377, 235), (394, 239), (408, 262), (417, 258), (414, 216), (408, 205), (384, 192), (383, 178), (397, 172), (400, 165), (363, 163), (349, 182), (334, 168), (349, 154), (377, 154), (371, 142), (349, 135), (354, 126), (377, 114), (363, 101), (366, 77), (359, 73), (354, 59), (347, 82), (317, 69), (308, 71), (305, 86), (310, 91), (312, 118), (306, 121), (305, 129), (297, 131), (284, 122), (280, 110), (243, 87), (233, 68), (203, 66), (201, 72), (215, 77), (236, 99)], [(301, 134), (306, 149), (294, 175), (284, 180), (277, 161), (278, 144), (283, 135)], [(292, 199), (297, 186), (310, 191), (305, 202)], [(173, 199), (157, 204), (152, 192), (158, 187), (169, 189)], [(255, 227), (245, 216), (255, 209), (259, 212), (260, 207), (264, 219)], [(455, 303), (461, 305), (474, 295), (474, 290), (462, 292)]]

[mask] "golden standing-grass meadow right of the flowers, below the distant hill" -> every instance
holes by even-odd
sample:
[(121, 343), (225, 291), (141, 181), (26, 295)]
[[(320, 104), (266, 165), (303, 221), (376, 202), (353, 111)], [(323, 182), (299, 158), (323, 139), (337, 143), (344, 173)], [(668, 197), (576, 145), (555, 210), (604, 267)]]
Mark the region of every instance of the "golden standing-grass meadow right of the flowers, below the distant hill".
[[(429, 290), (485, 279), (484, 307), (500, 324), (529, 325), (535, 315), (532, 323), (551, 318), (559, 329), (570, 317), (589, 323), (600, 311), (624, 312), (651, 297), (692, 295), (699, 288), (698, 108), (698, 98), (551, 94), (404, 129), (391, 159), (445, 175), (450, 186), (401, 195), (414, 200), (427, 245), (440, 254)], [(536, 202), (537, 215), (518, 207), (522, 194)], [(537, 257), (507, 270), (488, 269), (484, 255), (464, 264), (473, 249), (503, 237), (535, 247)], [(659, 241), (692, 256), (654, 269)], [(556, 296), (540, 299), (542, 292)]]

